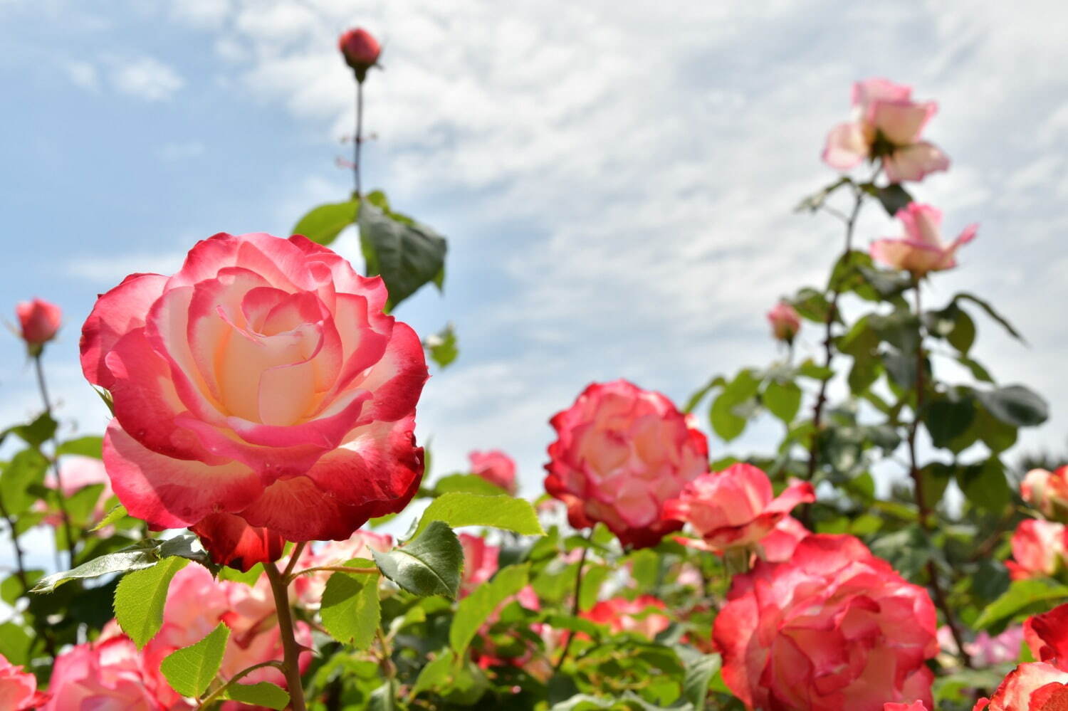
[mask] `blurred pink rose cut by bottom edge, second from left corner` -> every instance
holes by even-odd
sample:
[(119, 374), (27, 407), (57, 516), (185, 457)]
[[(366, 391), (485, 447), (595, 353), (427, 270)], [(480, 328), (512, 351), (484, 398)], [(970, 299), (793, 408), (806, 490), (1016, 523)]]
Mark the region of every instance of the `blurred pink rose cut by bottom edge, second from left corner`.
[[(166, 686), (164, 689), (174, 692)], [(160, 711), (158, 681), (146, 674), (141, 654), (125, 636), (77, 645), (56, 658), (43, 711)]]

